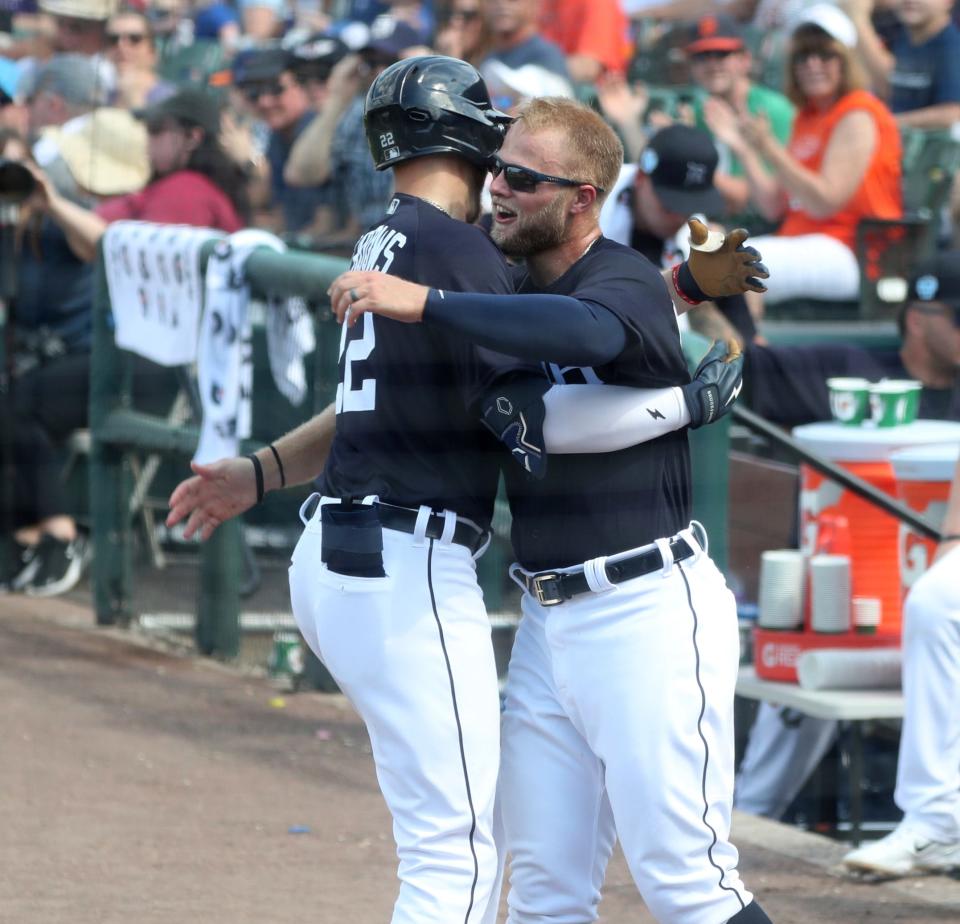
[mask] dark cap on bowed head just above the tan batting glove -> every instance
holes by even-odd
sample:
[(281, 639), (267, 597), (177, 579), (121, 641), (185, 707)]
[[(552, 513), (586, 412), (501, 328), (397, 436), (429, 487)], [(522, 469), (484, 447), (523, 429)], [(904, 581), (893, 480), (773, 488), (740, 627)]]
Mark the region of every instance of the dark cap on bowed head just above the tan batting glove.
[(671, 212), (708, 216), (724, 211), (723, 196), (713, 185), (717, 149), (699, 128), (670, 125), (649, 141), (638, 165), (653, 182), (657, 198)]

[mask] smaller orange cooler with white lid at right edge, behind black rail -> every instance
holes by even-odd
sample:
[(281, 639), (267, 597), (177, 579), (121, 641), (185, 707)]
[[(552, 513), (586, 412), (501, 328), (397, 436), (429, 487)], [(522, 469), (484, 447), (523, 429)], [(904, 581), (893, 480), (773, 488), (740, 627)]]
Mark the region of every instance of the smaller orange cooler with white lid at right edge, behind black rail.
[[(960, 445), (953, 443), (901, 449), (890, 457), (899, 498), (937, 527), (943, 523), (958, 455)], [(904, 597), (930, 566), (936, 548), (933, 539), (900, 524), (898, 552)]]

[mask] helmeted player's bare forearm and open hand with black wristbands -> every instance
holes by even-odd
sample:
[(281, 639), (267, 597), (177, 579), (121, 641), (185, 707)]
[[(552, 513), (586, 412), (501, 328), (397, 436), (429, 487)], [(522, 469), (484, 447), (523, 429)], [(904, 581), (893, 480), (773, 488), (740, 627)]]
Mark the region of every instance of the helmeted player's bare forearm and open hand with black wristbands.
[[(331, 404), (323, 411), (257, 450), (263, 493), (285, 485), (306, 484), (322, 471), (333, 442), (336, 414)], [(281, 470), (282, 466), (282, 470)], [(170, 495), (167, 526), (186, 520), (184, 536), (209, 539), (226, 520), (258, 503), (257, 467), (246, 456), (220, 459), (209, 465), (192, 462), (193, 476), (181, 481)]]

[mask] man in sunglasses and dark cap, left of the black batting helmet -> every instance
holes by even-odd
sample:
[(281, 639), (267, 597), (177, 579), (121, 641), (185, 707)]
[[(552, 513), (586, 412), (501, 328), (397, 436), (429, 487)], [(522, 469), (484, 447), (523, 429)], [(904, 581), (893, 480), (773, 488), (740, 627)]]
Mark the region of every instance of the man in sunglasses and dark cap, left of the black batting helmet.
[(269, 46), (241, 52), (234, 60), (233, 82), (246, 111), (266, 128), (264, 154), (250, 163), (256, 181), (254, 223), (275, 231), (309, 229), (318, 211), (336, 211), (336, 196), (329, 185), (294, 188), (284, 176), (294, 143), (316, 118), (293, 55)]

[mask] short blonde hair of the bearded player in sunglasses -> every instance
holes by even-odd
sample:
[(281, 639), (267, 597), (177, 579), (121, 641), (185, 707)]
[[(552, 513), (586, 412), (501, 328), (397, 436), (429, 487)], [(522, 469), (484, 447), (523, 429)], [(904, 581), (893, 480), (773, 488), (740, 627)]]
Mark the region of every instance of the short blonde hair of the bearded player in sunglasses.
[(620, 176), (623, 145), (598, 113), (572, 99), (542, 96), (522, 103), (515, 121), (531, 132), (563, 132), (569, 142), (560, 155), (567, 165), (566, 175), (596, 187), (597, 203), (603, 203)]

